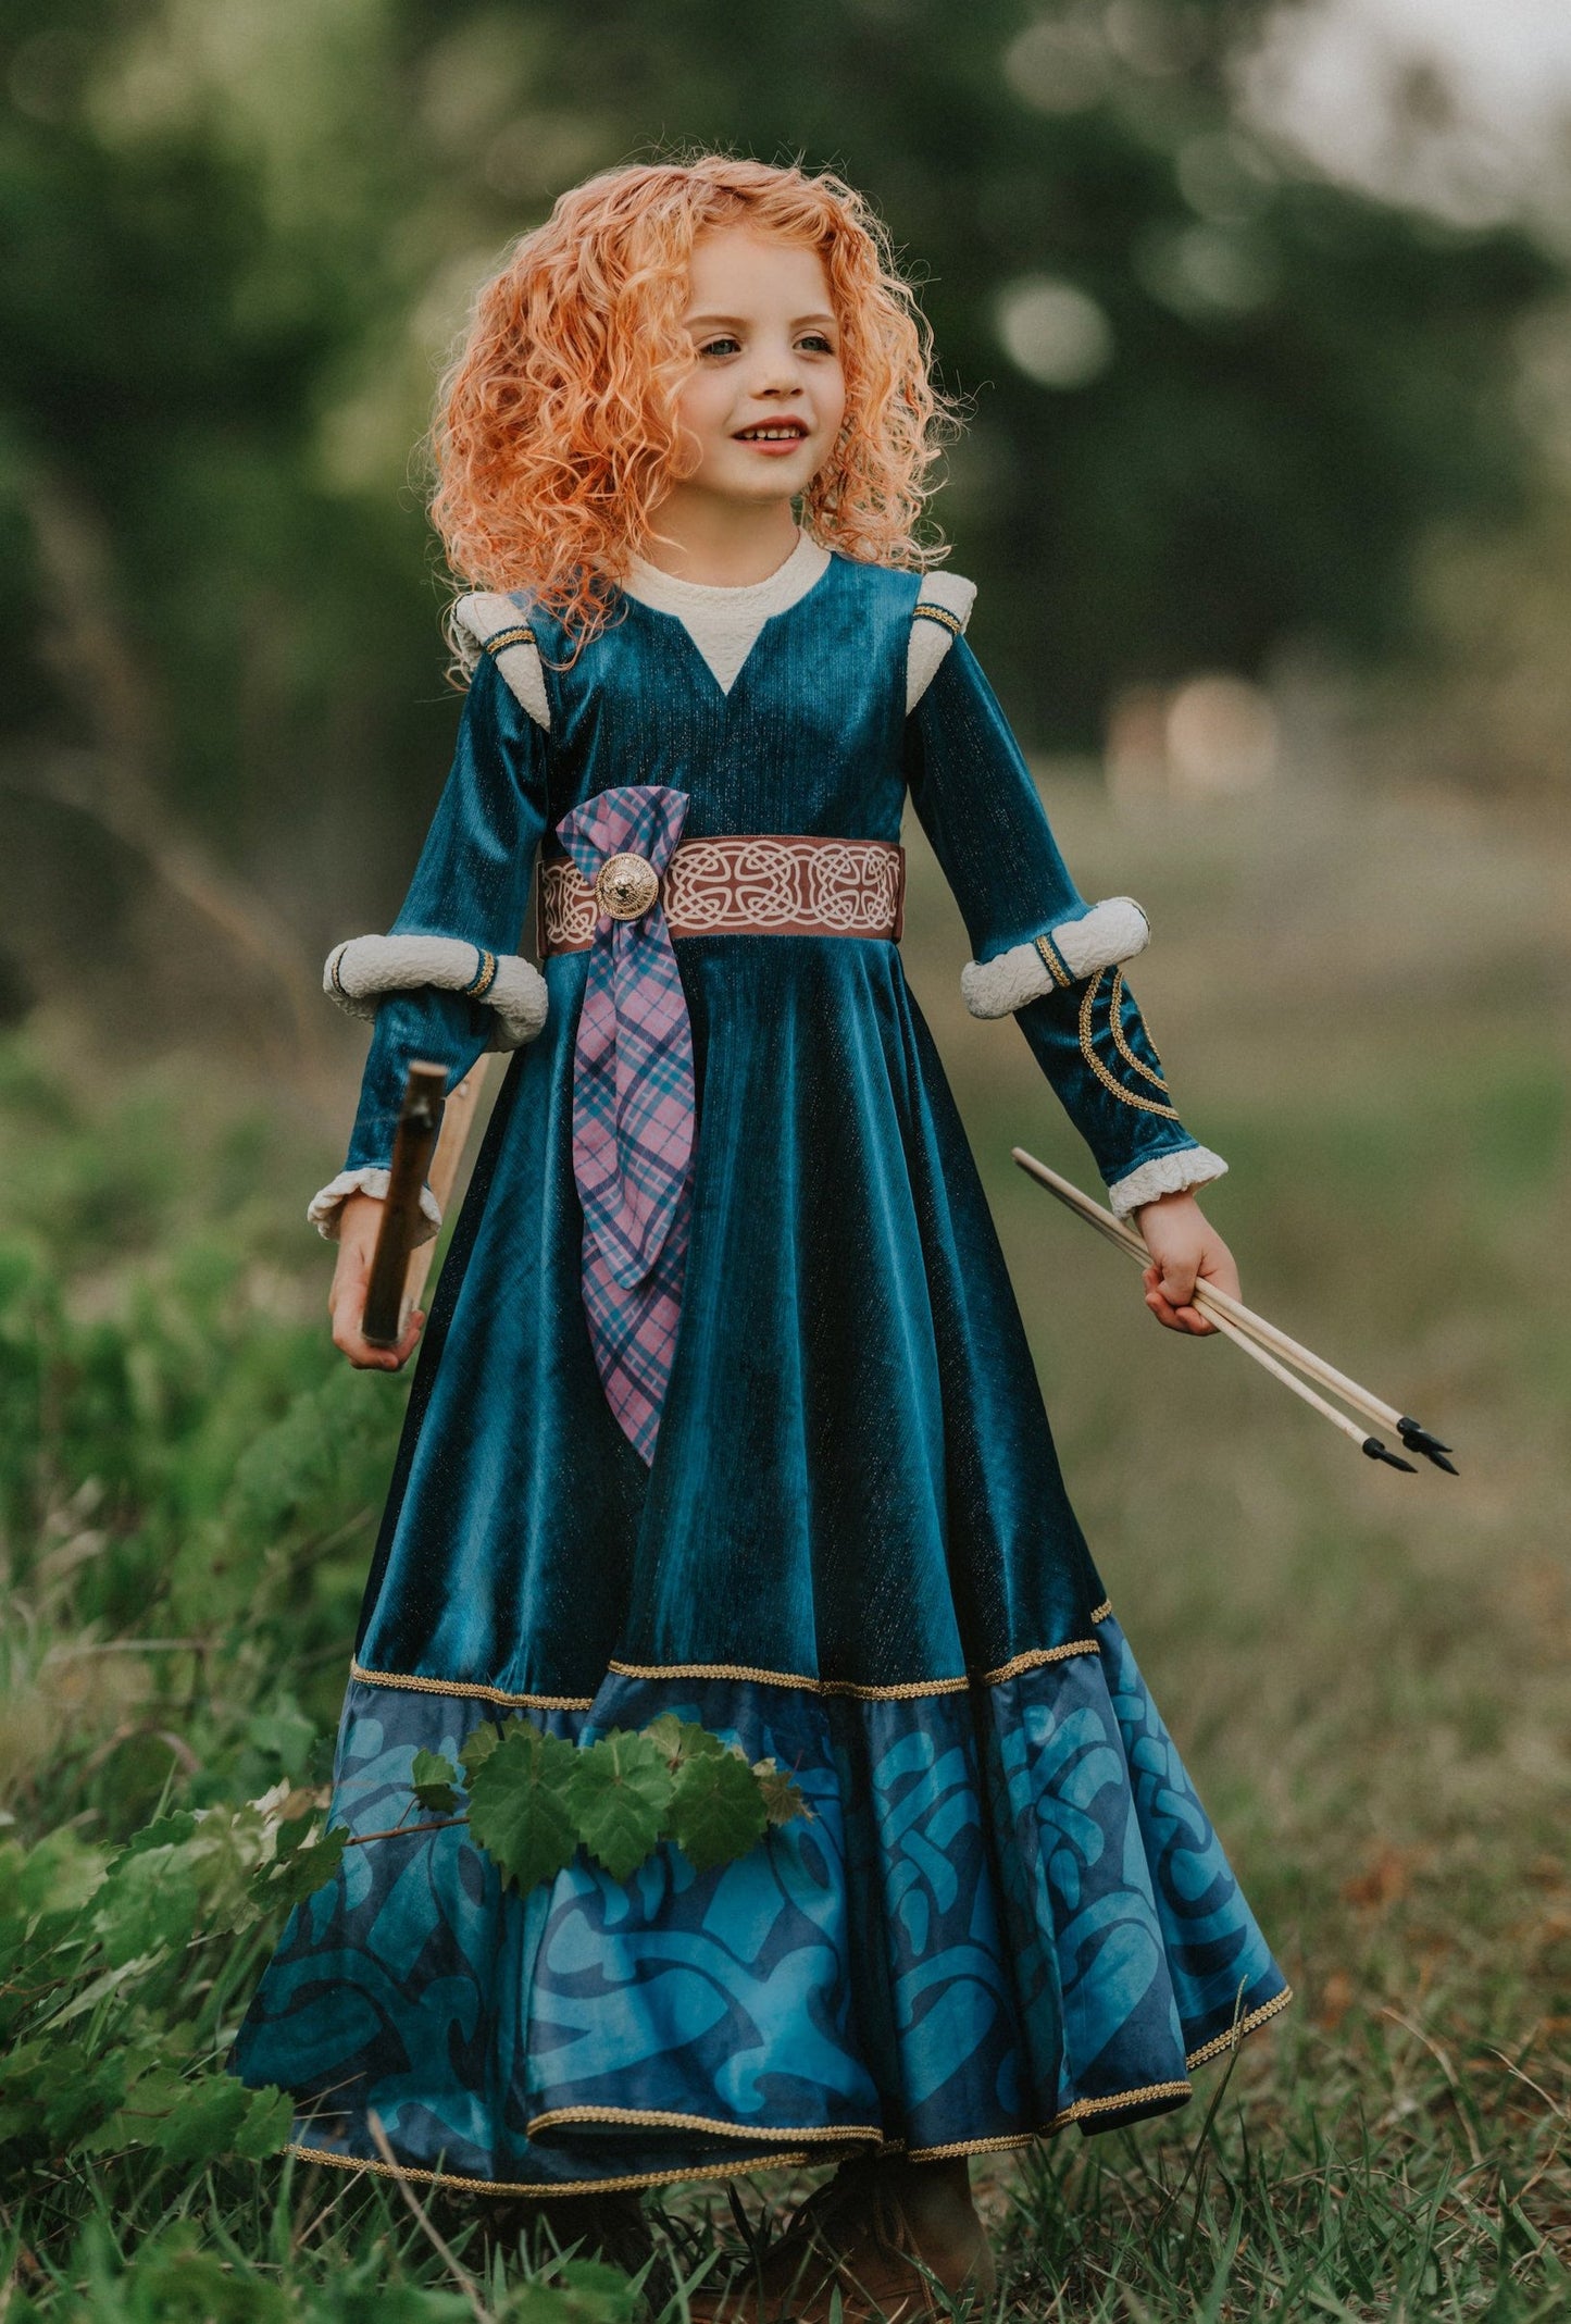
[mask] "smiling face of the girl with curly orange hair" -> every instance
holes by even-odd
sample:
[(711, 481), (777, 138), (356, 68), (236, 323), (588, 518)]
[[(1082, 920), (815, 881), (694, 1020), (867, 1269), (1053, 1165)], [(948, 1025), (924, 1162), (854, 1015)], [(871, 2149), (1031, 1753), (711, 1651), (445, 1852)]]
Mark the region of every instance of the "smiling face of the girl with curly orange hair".
[(846, 379), (818, 251), (746, 228), (700, 235), (686, 328), (697, 370), (679, 393), (679, 490), (732, 502), (804, 493), (839, 439)]

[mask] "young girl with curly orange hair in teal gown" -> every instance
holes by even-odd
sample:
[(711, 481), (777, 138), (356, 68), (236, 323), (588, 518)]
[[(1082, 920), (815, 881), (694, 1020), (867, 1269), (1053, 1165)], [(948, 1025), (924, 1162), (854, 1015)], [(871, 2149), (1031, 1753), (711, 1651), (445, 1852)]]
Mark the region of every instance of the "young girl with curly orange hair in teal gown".
[[(1206, 1332), (1236, 1290), (1122, 962), (927, 572), (927, 339), (832, 177), (706, 158), (565, 195), (481, 293), (435, 516), (472, 665), (388, 937), (337, 1346), (411, 1057), (516, 1048), (416, 1367), (335, 1820), (525, 1710), (662, 1710), (811, 1820), (695, 1873), (502, 1894), (460, 1829), (351, 1850), (242, 2036), (300, 2152), (476, 2194), (839, 2161), (746, 2317), (988, 2291), (967, 2157), (1181, 2106), (1287, 1999), (1074, 1520), (1002, 1253), (899, 967), (906, 797), (1013, 1013)], [(518, 953), (539, 858), (537, 951)], [(430, 1229), (437, 1229), (435, 1202)], [(386, 2168), (386, 2166), (381, 2166)], [(569, 2205), (572, 2210), (572, 2205)], [(579, 2205), (579, 2212), (583, 2205)], [(569, 2219), (569, 2233), (581, 2226)], [(795, 2289), (792, 2289), (795, 2287)], [(700, 2312), (695, 2308), (695, 2312)]]

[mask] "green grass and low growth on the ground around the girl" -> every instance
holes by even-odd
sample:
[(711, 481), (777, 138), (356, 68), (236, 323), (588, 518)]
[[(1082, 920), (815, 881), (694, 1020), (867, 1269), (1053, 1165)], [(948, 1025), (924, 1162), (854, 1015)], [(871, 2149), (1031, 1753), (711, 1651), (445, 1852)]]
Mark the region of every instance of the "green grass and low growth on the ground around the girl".
[[(1234, 1164), (1208, 1208), (1246, 1297), (1464, 1473), (1380, 1471), (1236, 1350), (1157, 1332), (1134, 1269), (1009, 1167), (1025, 1143), (1092, 1183), (1013, 1027), (962, 1016), (964, 939), (918, 858), (909, 967), (1076, 1506), (1299, 1996), (1183, 2113), (976, 2166), (1006, 2315), (1571, 2315), (1571, 869), (1443, 804), (1120, 830), (1057, 781), (1053, 813), (1088, 895), (1153, 909), (1136, 990)], [(77, 2010), (23, 2131), (0, 2082), (7, 2324), (616, 2315), (518, 2268), (465, 2291), (395, 2194), (205, 2152), (179, 2108), (163, 2145), (116, 2145), (114, 2061), (202, 2082), (265, 1957), (277, 1906), (235, 1908), (232, 1868), (177, 1852), (163, 1952), (77, 2008), (130, 1943), (72, 1908), (93, 1866), (170, 1808), (270, 1794), (277, 1822), (325, 1769), (404, 1394), (325, 1339), (297, 1218), (332, 1167), (332, 1136), (188, 1062), (119, 1081), (0, 1050), (0, 2036)], [(98, 2147), (95, 2075), (121, 2119)], [(667, 2201), (732, 2238), (720, 2194)]]

